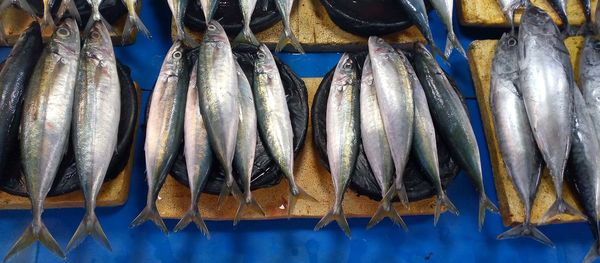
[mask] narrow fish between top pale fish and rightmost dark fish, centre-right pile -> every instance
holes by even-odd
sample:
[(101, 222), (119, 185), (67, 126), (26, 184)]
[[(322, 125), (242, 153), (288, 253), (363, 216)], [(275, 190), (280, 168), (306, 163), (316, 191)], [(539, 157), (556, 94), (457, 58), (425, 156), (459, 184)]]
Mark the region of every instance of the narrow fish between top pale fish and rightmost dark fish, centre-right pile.
[(406, 69), (408, 70), (408, 77), (413, 88), (415, 105), (412, 151), (421, 166), (425, 169), (427, 178), (433, 183), (435, 188), (437, 198), (435, 201), (435, 213), (433, 214), (433, 225), (437, 225), (442, 212), (442, 206), (455, 215), (458, 215), (459, 212), (442, 188), (436, 133), (431, 112), (429, 111), (429, 103), (427, 103), (427, 96), (410, 63), (406, 64)]

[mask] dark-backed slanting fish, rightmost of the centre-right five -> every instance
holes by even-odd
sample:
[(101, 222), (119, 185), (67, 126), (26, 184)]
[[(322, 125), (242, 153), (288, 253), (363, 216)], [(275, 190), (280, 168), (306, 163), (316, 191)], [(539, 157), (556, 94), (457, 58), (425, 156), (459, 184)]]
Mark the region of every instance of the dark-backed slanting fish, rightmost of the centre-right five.
[(488, 199), (483, 186), (481, 159), (475, 132), (469, 115), (462, 104), (459, 94), (452, 87), (443, 70), (423, 44), (417, 44), (415, 69), (427, 102), (431, 117), (453, 160), (465, 170), (479, 193), (479, 230), (483, 227), (485, 210), (498, 212), (498, 208)]

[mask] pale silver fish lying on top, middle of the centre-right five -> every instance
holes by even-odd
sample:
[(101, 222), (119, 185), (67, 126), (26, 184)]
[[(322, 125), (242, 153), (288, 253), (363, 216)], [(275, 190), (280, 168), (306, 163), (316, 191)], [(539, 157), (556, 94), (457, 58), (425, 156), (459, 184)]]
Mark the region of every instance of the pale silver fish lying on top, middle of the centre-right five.
[(413, 140), (415, 116), (413, 90), (405, 66), (408, 62), (404, 54), (375, 36), (369, 38), (369, 55), (377, 102), (396, 168), (395, 189), (402, 204), (408, 206), (404, 168)]

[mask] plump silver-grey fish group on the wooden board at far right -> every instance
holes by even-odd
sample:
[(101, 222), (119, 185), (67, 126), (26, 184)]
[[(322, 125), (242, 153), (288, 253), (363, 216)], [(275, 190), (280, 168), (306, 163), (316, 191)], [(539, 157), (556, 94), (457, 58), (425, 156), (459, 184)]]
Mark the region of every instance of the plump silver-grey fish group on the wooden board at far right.
[[(598, 239), (600, 206), (600, 39), (588, 36), (575, 82), (569, 52), (550, 16), (528, 6), (518, 37), (505, 34), (492, 64), (490, 105), (504, 164), (525, 208), (522, 225), (498, 236), (529, 236), (552, 242), (531, 223), (543, 164), (549, 168), (556, 201), (544, 214), (586, 217)], [(568, 172), (567, 172), (567, 168)], [(563, 179), (573, 183), (584, 215), (563, 199)], [(599, 255), (596, 241), (584, 261)]]

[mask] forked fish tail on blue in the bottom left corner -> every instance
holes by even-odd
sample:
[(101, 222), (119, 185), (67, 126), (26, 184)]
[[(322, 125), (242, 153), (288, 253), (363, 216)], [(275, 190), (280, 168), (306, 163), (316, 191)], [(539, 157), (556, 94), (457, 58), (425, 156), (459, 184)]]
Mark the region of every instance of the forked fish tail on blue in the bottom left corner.
[(31, 246), (35, 241), (40, 241), (45, 247), (47, 247), (52, 253), (59, 256), (60, 258), (65, 258), (65, 253), (62, 251), (52, 234), (46, 228), (46, 225), (41, 220), (34, 220), (23, 232), (23, 235), (15, 242), (15, 244), (10, 248), (6, 257), (4, 257), (4, 261), (12, 258), (17, 255), (19, 252), (25, 250), (29, 246)]

